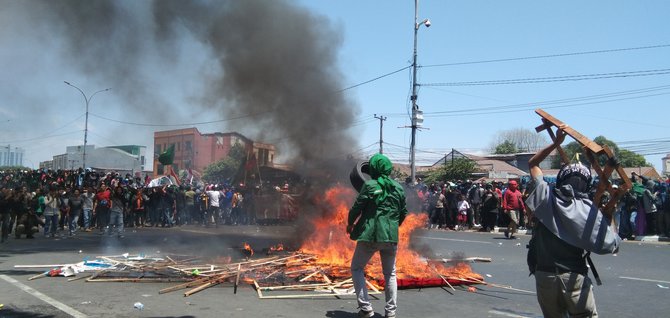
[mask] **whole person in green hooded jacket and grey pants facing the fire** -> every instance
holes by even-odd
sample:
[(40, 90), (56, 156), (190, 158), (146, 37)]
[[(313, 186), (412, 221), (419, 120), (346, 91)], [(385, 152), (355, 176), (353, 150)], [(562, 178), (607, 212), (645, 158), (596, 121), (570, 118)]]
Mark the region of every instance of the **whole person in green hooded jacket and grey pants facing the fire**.
[(351, 275), (358, 301), (359, 317), (372, 317), (374, 311), (365, 285), (365, 266), (379, 251), (384, 273), (386, 294), (385, 317), (395, 317), (397, 282), (395, 258), (398, 250), (398, 227), (407, 216), (405, 192), (402, 186), (389, 178), (393, 166), (382, 154), (370, 158), (370, 176), (349, 210), (347, 233), (356, 240), (351, 259)]

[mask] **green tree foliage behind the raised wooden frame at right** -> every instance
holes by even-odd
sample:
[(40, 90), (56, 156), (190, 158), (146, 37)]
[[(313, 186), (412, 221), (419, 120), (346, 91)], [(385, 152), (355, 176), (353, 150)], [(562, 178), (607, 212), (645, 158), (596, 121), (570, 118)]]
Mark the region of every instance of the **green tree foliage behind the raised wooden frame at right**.
[[(614, 142), (611, 141), (604, 136), (598, 136), (593, 139), (595, 143), (598, 145), (606, 145), (609, 147), (612, 152), (614, 153), (614, 156), (619, 159), (621, 162), (621, 166), (625, 168), (629, 167), (647, 167), (650, 166), (650, 164), (647, 162), (646, 159), (644, 159), (644, 156), (636, 154), (630, 150), (626, 149), (620, 149), (619, 146)], [(576, 153), (580, 154), (580, 161), (583, 163), (588, 163), (588, 159), (584, 155), (584, 151), (582, 149), (582, 146), (577, 143), (576, 141), (572, 141), (565, 146), (563, 146), (563, 150), (565, 150), (565, 153), (568, 155), (568, 158), (570, 158), (571, 162), (574, 161), (574, 157)], [(598, 158), (598, 162), (601, 166), (605, 165), (605, 158)], [(561, 167), (561, 157), (556, 156), (554, 157), (554, 160), (551, 163), (551, 167), (553, 169), (559, 169)]]

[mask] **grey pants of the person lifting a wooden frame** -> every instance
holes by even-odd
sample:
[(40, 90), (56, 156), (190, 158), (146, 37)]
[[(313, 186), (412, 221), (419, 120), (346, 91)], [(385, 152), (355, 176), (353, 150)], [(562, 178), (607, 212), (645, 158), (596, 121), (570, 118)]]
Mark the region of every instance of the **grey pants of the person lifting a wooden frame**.
[(545, 318), (598, 317), (593, 285), (587, 276), (536, 271), (535, 288)]

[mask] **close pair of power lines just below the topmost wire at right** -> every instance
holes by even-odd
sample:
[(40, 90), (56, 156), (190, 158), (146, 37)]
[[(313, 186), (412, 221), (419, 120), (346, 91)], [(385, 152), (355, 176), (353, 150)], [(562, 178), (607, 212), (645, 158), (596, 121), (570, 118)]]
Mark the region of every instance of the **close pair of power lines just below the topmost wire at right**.
[(655, 76), (655, 75), (665, 75), (665, 74), (670, 74), (670, 69), (656, 69), (656, 70), (600, 73), (600, 74), (581, 74), (581, 75), (567, 75), (567, 76), (535, 77), (535, 78), (507, 79), (507, 80), (426, 83), (426, 84), (420, 84), (420, 85), (421, 86), (484, 86), (484, 85), (535, 84), (535, 83), (549, 83), (549, 82), (587, 81), (587, 80), (607, 79), (607, 78)]

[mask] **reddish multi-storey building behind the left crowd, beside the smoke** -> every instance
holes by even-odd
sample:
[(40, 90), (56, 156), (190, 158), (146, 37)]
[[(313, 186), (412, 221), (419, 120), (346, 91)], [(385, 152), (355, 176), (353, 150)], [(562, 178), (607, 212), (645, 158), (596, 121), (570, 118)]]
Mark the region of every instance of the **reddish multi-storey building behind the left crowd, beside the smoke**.
[[(226, 158), (235, 144), (253, 156), (259, 167), (273, 166), (274, 145), (254, 142), (236, 132), (203, 134), (195, 127), (154, 132), (154, 158), (174, 146), (173, 170), (202, 173), (211, 163)], [(165, 173), (158, 160), (154, 160), (153, 171), (154, 175)]]

